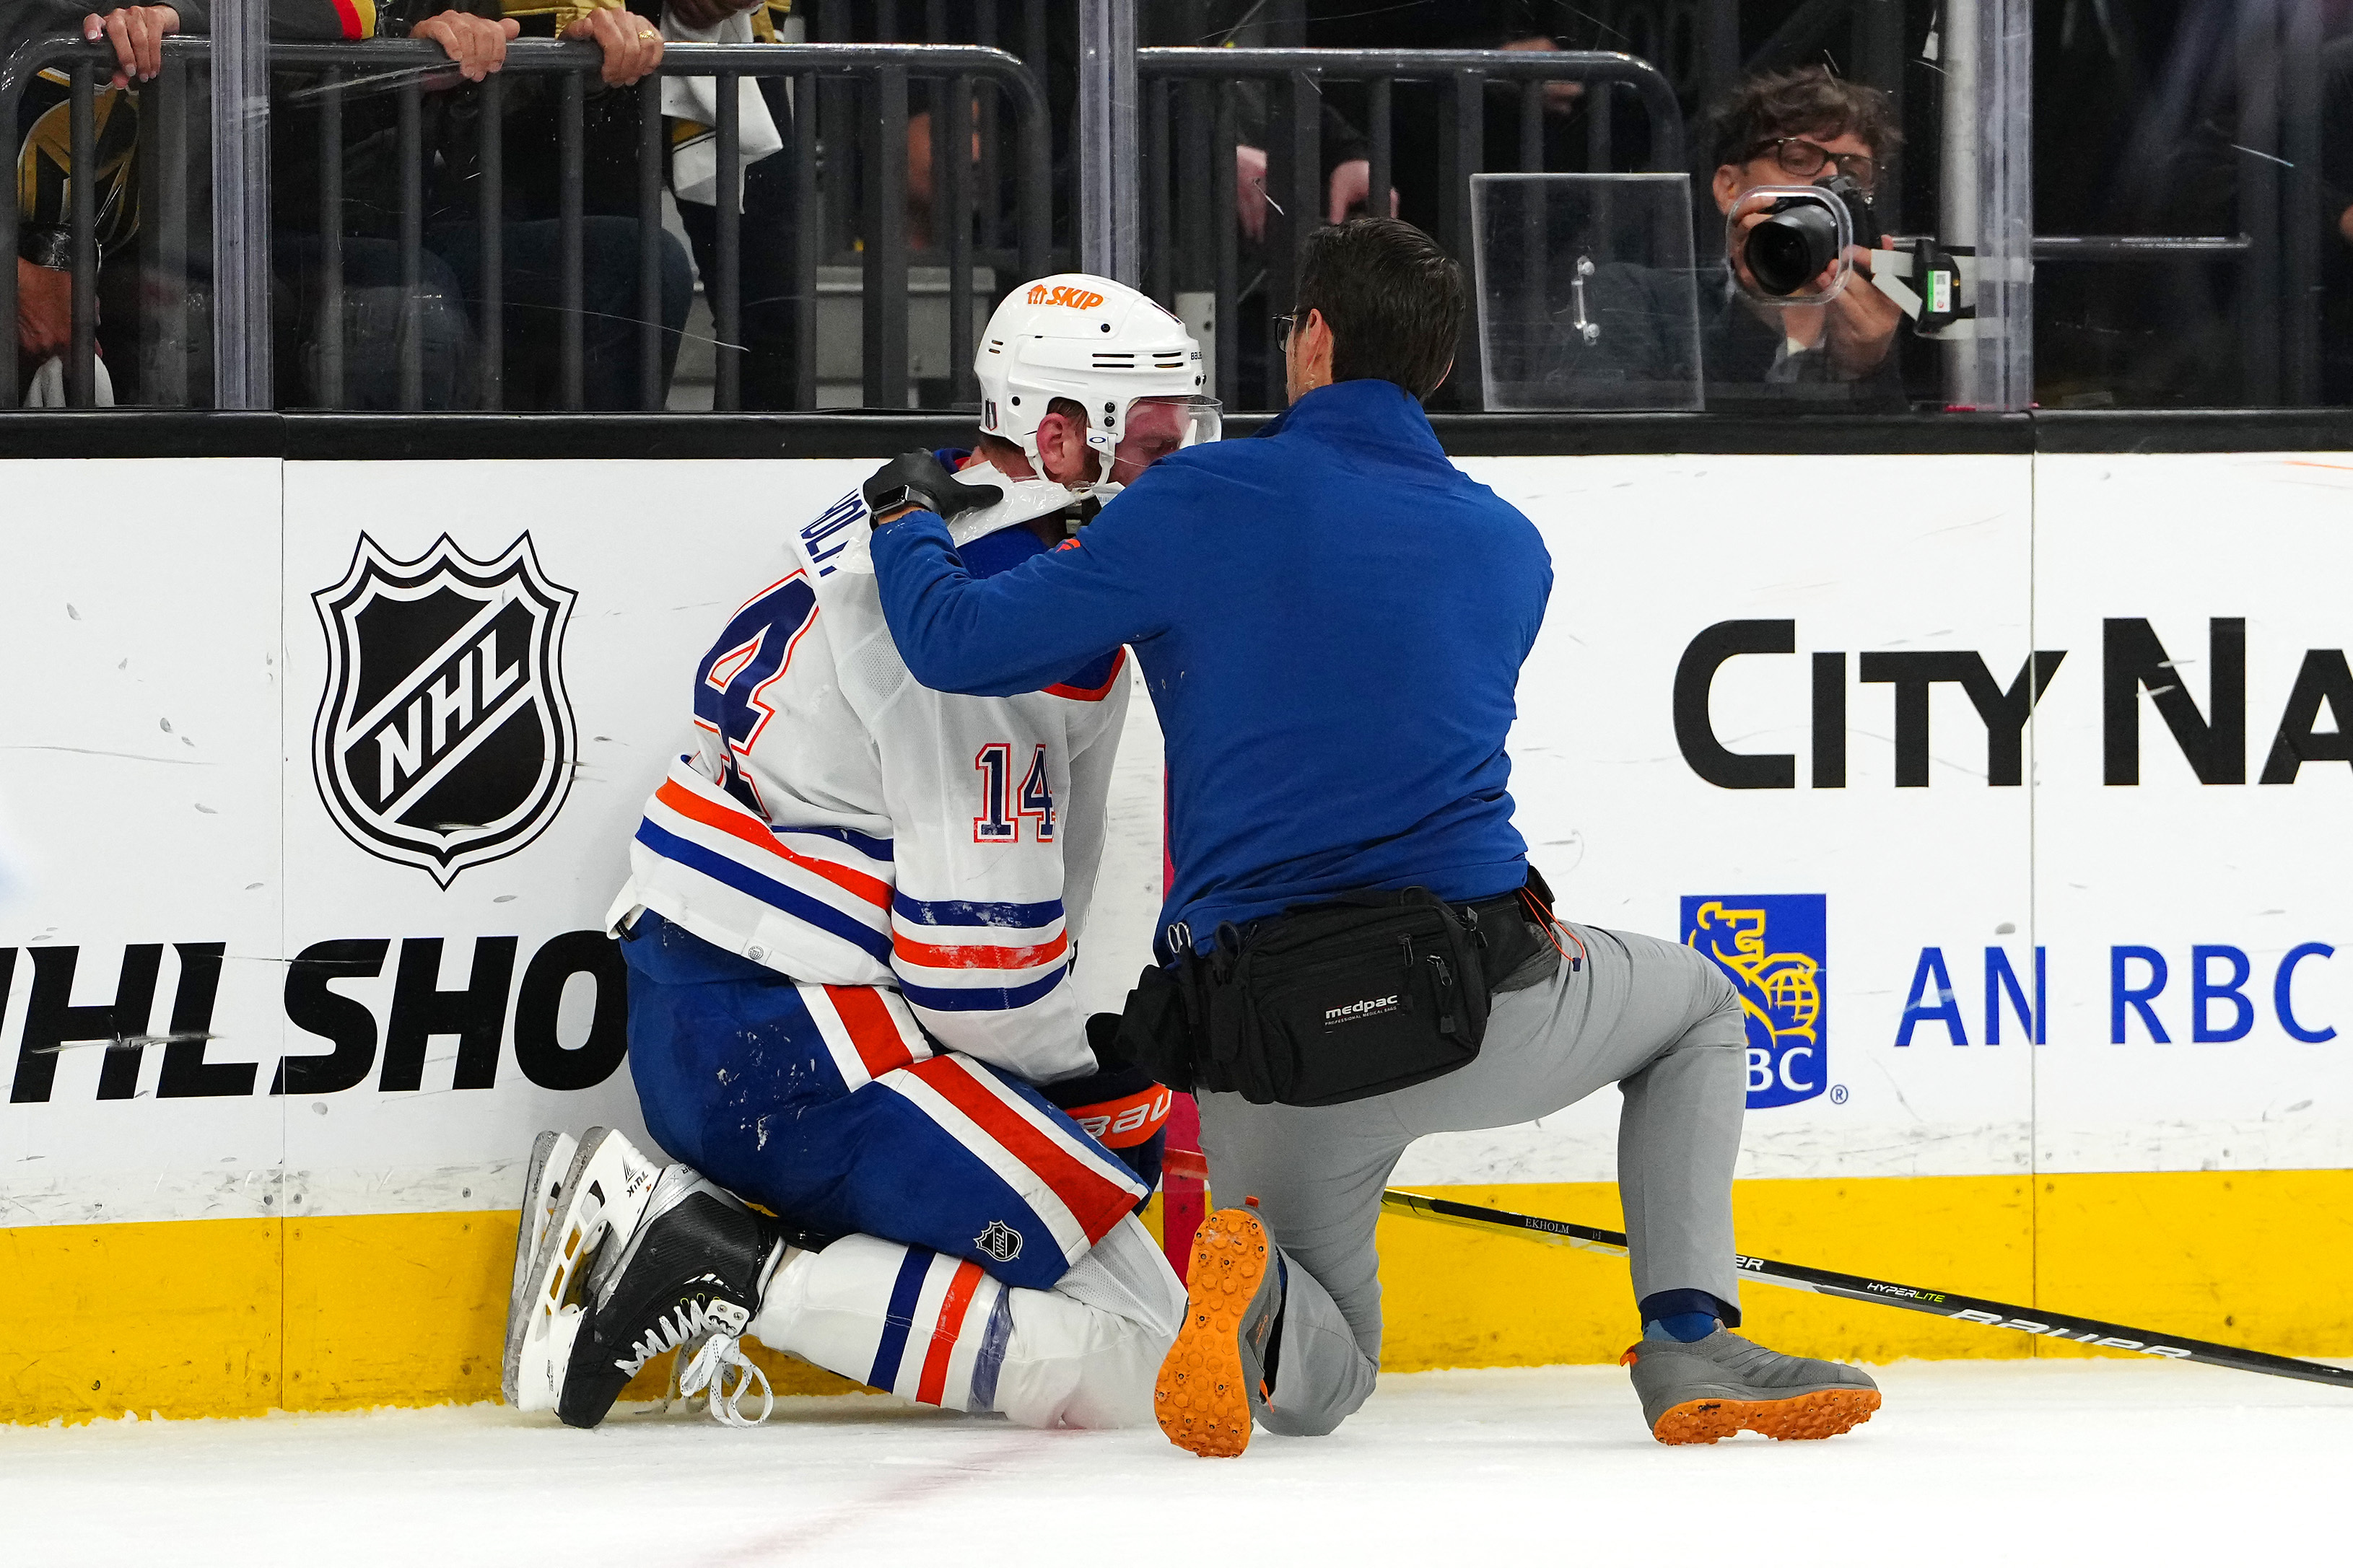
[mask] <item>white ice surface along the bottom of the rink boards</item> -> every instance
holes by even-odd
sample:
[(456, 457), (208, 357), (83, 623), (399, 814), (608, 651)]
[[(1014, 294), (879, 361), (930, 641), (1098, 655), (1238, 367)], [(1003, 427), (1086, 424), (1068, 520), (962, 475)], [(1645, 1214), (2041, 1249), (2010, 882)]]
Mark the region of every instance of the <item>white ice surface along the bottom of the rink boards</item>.
[(1339, 1434), (1195, 1460), (795, 1399), (567, 1432), (496, 1406), (0, 1427), (0, 1561), (2264, 1563), (2348, 1561), (2353, 1394), (2198, 1366), (1944, 1361), (1828, 1443), (1661, 1448), (1626, 1373), (1386, 1378)]

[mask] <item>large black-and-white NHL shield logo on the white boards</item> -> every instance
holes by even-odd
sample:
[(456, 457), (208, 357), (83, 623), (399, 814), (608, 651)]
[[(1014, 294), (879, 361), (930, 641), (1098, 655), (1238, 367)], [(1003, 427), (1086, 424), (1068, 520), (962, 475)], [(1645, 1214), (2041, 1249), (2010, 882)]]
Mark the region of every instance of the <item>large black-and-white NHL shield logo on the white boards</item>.
[(539, 837), (579, 736), (562, 675), (574, 592), (532, 536), (478, 562), (442, 534), (402, 562), (362, 534), (311, 599), (327, 630), (311, 766), (336, 827), (440, 886)]

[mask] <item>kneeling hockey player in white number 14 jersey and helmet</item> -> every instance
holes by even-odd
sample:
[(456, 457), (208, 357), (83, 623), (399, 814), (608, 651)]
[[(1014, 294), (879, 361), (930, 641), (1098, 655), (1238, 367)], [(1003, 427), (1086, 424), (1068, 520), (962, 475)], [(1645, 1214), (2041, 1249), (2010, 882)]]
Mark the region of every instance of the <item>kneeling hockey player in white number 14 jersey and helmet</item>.
[(819, 512), (694, 670), (694, 745), (612, 907), (631, 1072), (680, 1164), (541, 1135), (506, 1349), (522, 1408), (593, 1427), (701, 1340), (685, 1392), (744, 1420), (751, 1333), (944, 1408), (1151, 1420), (1184, 1291), (1134, 1208), (1169, 1098), (1096, 1058), (1066, 983), (1125, 651), (1016, 696), (927, 691), (866, 541), (873, 508), (913, 501), (958, 515), (972, 571), (1009, 569), (1073, 503), (1214, 437), (1217, 404), (1184, 327), (1087, 275), (1014, 289), (976, 374), (979, 451), (908, 454)]

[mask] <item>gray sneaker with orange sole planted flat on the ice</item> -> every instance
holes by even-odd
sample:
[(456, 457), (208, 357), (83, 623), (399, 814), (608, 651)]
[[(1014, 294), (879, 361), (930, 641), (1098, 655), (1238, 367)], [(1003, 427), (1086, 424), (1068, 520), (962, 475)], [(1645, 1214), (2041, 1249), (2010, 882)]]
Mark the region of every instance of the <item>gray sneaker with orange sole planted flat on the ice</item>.
[(1880, 1385), (1859, 1366), (1784, 1356), (1727, 1328), (1692, 1342), (1642, 1340), (1621, 1363), (1661, 1443), (1713, 1443), (1741, 1429), (1838, 1436), (1880, 1408)]

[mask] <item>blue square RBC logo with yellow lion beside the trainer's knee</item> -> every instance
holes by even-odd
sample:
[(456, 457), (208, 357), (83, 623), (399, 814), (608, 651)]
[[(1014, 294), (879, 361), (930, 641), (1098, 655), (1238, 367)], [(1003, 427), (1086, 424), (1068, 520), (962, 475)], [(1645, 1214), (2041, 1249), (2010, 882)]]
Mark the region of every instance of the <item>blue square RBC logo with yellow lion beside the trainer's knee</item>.
[(1685, 898), (1682, 943), (1715, 959), (1748, 1016), (1748, 1110), (1828, 1084), (1828, 914), (1821, 893)]

